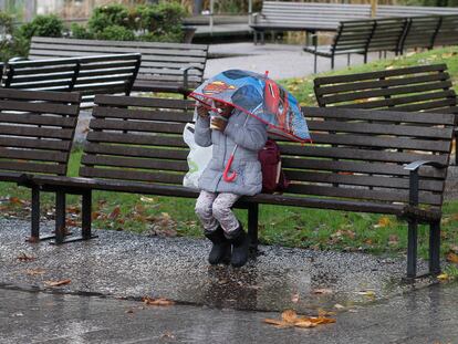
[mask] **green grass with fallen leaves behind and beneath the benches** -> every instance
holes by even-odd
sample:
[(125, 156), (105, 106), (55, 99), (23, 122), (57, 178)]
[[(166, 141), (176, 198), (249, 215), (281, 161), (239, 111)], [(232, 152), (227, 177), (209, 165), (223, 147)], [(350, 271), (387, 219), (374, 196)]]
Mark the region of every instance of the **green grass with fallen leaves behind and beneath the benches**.
[[(325, 73), (357, 73), (386, 67), (446, 62), (454, 84), (458, 87), (458, 48), (438, 49), (424, 53), (407, 54), (395, 60), (382, 60), (366, 65)], [(303, 105), (314, 105), (313, 76), (283, 80)], [(458, 91), (458, 88), (457, 88)], [(81, 149), (71, 156), (71, 176), (76, 176)], [(0, 184), (4, 216), (28, 217), (29, 190), (12, 184)], [(42, 213), (53, 213), (53, 196), (42, 196)], [(93, 197), (95, 228), (201, 237), (194, 215), (194, 199), (149, 197), (135, 194), (96, 191)], [(67, 197), (69, 225), (79, 225), (80, 199)], [(450, 250), (458, 242), (458, 200), (444, 206), (443, 250)], [(246, 221), (247, 211), (237, 209)], [(327, 211), (294, 207), (261, 206), (260, 240), (262, 243), (316, 250), (364, 251), (375, 254), (404, 254), (407, 244), (407, 225), (395, 217), (358, 212)], [(419, 253), (427, 257), (427, 228), (419, 229)], [(454, 271), (455, 272), (455, 271)]]

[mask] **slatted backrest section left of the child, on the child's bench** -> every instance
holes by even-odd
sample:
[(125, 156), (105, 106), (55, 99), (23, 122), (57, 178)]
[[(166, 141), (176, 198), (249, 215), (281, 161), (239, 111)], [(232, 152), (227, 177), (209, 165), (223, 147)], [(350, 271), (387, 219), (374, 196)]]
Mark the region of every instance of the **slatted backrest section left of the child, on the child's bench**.
[(183, 184), (194, 102), (97, 95), (95, 103), (81, 176)]

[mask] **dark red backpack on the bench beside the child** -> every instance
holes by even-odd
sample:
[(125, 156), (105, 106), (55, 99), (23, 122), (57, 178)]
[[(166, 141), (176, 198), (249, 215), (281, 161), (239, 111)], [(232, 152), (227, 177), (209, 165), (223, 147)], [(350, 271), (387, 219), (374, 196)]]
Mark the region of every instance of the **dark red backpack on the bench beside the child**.
[(290, 181), (281, 169), (280, 147), (273, 139), (268, 139), (266, 146), (259, 150), (259, 161), (262, 170), (262, 192), (283, 192)]

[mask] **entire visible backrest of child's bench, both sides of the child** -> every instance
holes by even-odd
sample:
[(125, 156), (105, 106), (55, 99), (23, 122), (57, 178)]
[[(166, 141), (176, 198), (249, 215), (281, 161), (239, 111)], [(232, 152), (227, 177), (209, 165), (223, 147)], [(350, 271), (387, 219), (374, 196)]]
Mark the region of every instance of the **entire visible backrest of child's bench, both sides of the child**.
[[(95, 102), (81, 176), (181, 186), (189, 153), (183, 131), (191, 121), (192, 102), (122, 96), (97, 96)], [(314, 144), (279, 140), (291, 180), (287, 195), (407, 202), (403, 164), (448, 163), (450, 114), (303, 111)], [(421, 170), (421, 204), (441, 205), (445, 177), (446, 171)]]

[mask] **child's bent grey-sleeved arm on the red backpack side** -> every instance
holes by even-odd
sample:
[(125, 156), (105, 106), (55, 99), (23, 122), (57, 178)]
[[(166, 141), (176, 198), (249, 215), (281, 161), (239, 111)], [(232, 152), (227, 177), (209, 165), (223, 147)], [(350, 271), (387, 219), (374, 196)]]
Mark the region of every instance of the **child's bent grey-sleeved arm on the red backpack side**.
[(267, 125), (250, 115), (244, 115), (248, 116), (244, 125), (229, 122), (225, 134), (243, 148), (260, 150), (268, 139)]

